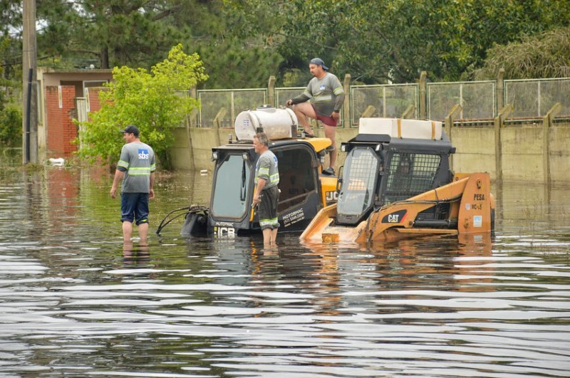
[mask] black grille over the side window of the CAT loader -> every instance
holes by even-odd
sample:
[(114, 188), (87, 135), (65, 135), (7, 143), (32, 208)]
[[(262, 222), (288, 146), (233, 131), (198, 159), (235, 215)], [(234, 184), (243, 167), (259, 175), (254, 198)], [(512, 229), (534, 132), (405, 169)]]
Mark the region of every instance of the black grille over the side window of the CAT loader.
[(384, 204), (432, 189), (440, 162), (439, 155), (395, 152), (390, 159)]

